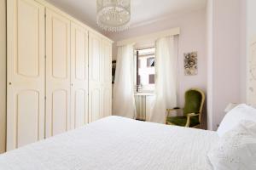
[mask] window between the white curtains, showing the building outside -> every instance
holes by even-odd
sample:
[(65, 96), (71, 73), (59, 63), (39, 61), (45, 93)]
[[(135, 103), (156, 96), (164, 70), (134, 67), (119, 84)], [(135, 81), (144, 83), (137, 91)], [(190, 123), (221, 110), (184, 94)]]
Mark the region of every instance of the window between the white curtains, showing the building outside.
[(135, 50), (135, 86), (137, 92), (154, 91), (154, 53), (155, 48)]

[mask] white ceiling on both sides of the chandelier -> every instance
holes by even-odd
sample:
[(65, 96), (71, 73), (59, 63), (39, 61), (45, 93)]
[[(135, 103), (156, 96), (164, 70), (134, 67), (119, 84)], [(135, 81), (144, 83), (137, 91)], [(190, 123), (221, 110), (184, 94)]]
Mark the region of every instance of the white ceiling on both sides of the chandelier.
[[(86, 25), (96, 26), (96, 0), (47, 0)], [(206, 8), (207, 0), (131, 0), (131, 27)]]

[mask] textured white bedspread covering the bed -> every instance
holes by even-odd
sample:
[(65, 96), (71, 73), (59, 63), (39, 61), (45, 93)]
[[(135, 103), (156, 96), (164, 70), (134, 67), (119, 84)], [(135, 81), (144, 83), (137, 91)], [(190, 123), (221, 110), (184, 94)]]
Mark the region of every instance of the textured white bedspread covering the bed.
[(1, 170), (208, 170), (217, 133), (110, 116), (0, 156)]

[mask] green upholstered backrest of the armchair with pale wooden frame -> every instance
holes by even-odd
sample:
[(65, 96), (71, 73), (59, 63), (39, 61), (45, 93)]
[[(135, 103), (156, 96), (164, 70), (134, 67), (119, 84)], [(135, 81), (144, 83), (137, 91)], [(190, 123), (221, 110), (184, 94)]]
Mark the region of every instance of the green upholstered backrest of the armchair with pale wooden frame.
[(205, 102), (205, 94), (196, 88), (191, 88), (185, 93), (185, 105), (183, 114), (186, 116), (189, 113), (200, 114), (199, 121), (201, 122), (201, 111)]

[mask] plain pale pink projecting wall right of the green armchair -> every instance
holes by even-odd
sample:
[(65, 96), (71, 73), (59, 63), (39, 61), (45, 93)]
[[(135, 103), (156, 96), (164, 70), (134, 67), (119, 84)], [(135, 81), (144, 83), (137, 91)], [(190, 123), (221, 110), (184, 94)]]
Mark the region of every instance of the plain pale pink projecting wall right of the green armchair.
[(244, 21), (241, 0), (209, 0), (208, 16), (208, 128), (216, 129), (230, 102), (243, 100)]

